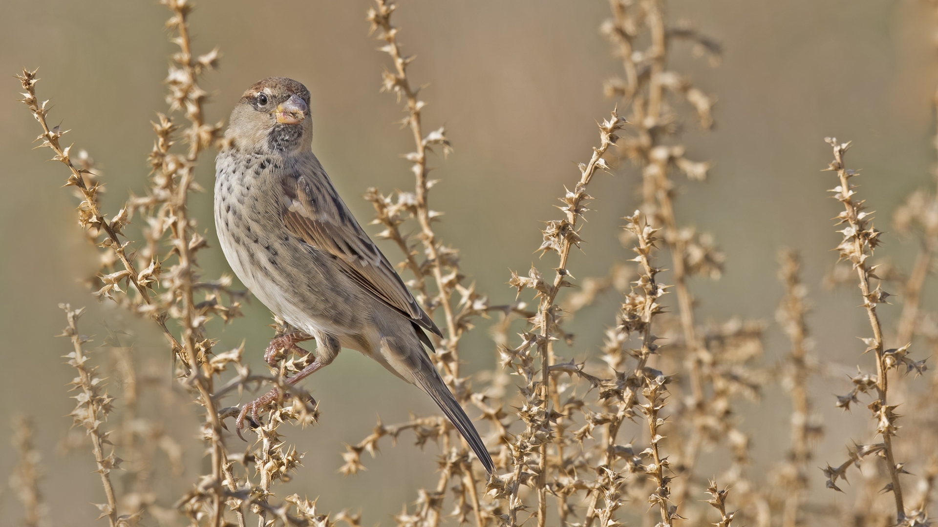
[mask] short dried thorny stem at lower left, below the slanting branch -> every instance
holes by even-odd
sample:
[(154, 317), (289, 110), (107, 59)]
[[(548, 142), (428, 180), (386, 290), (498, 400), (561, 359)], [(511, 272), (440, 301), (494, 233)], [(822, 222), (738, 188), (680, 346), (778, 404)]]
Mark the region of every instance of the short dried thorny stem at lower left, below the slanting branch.
[(68, 364), (78, 371), (78, 378), (71, 382), (76, 388), (81, 389), (75, 399), (78, 399), (78, 405), (71, 415), (76, 425), (82, 425), (91, 438), (91, 449), (95, 455), (95, 462), (101, 476), (101, 486), (104, 487), (104, 495), (107, 498), (107, 504), (98, 504), (101, 510), (101, 516), (107, 517), (111, 527), (117, 525), (117, 498), (114, 495), (113, 485), (111, 483), (111, 470), (116, 468), (121, 459), (116, 458), (113, 453), (110, 456), (104, 455), (104, 441), (107, 432), (100, 429), (100, 425), (111, 410), (111, 398), (107, 393), (102, 393), (100, 379), (95, 377), (95, 369), (85, 365), (88, 357), (84, 354), (84, 343), (88, 338), (78, 331), (78, 319), (82, 316), (84, 309), (71, 309), (68, 304), (60, 304), (60, 308), (65, 310), (68, 320), (68, 327), (62, 332), (63, 337), (71, 339), (72, 352), (68, 355)]

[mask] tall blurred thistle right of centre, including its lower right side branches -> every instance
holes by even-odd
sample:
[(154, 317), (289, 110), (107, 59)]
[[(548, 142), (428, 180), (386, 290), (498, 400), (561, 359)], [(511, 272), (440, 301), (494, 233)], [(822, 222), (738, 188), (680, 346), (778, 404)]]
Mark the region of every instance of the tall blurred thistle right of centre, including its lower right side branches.
[[(677, 332), (682, 337), (675, 350), (685, 355), (685, 368), (675, 378), (675, 387), (688, 396), (680, 413), (678, 433), (683, 445), (674, 462), (677, 479), (675, 502), (685, 503), (697, 457), (703, 446), (728, 439), (734, 450), (734, 462), (727, 473), (740, 495), (767, 510), (757, 486), (745, 477), (749, 463), (749, 439), (738, 428), (732, 401), (742, 395), (757, 397), (760, 372), (750, 362), (761, 352), (760, 323), (743, 324), (731, 320), (716, 328), (700, 328), (694, 313), (694, 299), (688, 279), (704, 276), (719, 279), (723, 255), (709, 233), (681, 226), (675, 218), (678, 185), (672, 173), (683, 173), (690, 180), (703, 181), (710, 164), (686, 157), (686, 148), (677, 135), (683, 129), (681, 115), (675, 110), (681, 103), (690, 104), (697, 113), (701, 128), (713, 125), (715, 98), (687, 78), (671, 70), (673, 46), (691, 42), (695, 52), (708, 54), (718, 62), (720, 47), (713, 39), (686, 24), (669, 24), (664, 0), (626, 2), (610, 0), (613, 18), (602, 25), (602, 32), (613, 43), (613, 51), (622, 60), (625, 78), (606, 84), (606, 95), (621, 98), (628, 104), (628, 120), (635, 124), (634, 134), (620, 143), (619, 152), (641, 167), (643, 177), (642, 211), (649, 223), (662, 229), (662, 238), (671, 253), (674, 292), (677, 297)], [(712, 395), (711, 395), (712, 392)], [(760, 524), (769, 520), (760, 513)]]

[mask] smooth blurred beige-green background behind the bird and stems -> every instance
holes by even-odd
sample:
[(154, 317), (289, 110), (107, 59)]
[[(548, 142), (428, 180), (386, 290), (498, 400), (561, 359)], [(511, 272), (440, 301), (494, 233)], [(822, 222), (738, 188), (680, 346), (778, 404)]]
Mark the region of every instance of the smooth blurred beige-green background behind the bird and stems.
[[(717, 128), (700, 133), (688, 121), (686, 135), (688, 157), (711, 160), (712, 177), (686, 185), (678, 205), (680, 219), (714, 233), (727, 255), (723, 279), (693, 284), (701, 320), (738, 313), (772, 322), (781, 295), (776, 251), (798, 248), (816, 304), (810, 324), (817, 354), (855, 364), (862, 351), (855, 336), (869, 331), (855, 309), (855, 291), (826, 292), (820, 286), (835, 260), (829, 249), (839, 241), (830, 220), (839, 205), (825, 192), (833, 178), (819, 172), (830, 157), (822, 140), (835, 135), (855, 142), (851, 163), (864, 169), (860, 191), (879, 212), (880, 229), (888, 231), (887, 218), (908, 192), (930, 185), (931, 96), (938, 83), (930, 4), (674, 0), (670, 6), (673, 22), (692, 23), (717, 38), (725, 52), (719, 68), (711, 68), (684, 45), (673, 50), (673, 68), (719, 98)], [(400, 157), (410, 136), (394, 124), (402, 113), (393, 96), (378, 91), (386, 55), (368, 37), (367, 7), (359, 0), (201, 0), (191, 17), (196, 49), (219, 45), (223, 53), (221, 68), (203, 84), (213, 93), (209, 117), (226, 119), (241, 92), (263, 77), (305, 83), (312, 92), (313, 148), (363, 222), (371, 218), (371, 205), (358, 199), (365, 188), (412, 185)], [(72, 128), (67, 139), (98, 160), (109, 191), (107, 209), (115, 210), (128, 190), (144, 188), (153, 142), (149, 120), (165, 109), (160, 82), (174, 48), (162, 30), (164, 8), (154, 1), (36, 0), (8, 2), (3, 11), (0, 72), (41, 67), (38, 89), (41, 98), (53, 99), (51, 121)], [(446, 124), (455, 147), (449, 158), (431, 163), (443, 180), (431, 198), (434, 209), (446, 212), (440, 232), (461, 249), (463, 269), (493, 302), (513, 297), (505, 283), (509, 269), (526, 269), (537, 258), (539, 220), (557, 216), (555, 198), (578, 177), (576, 162), (588, 158), (597, 141), (595, 121), (613, 107), (601, 95), (603, 80), (621, 68), (598, 33), (607, 15), (600, 0), (404, 0), (395, 15), (405, 52), (417, 54), (413, 78), (429, 84), (422, 92), (430, 103), (425, 125)], [(95, 256), (75, 225), (75, 202), (61, 188), (63, 167), (45, 160), (48, 151), (30, 150), (38, 126), (15, 101), (16, 81), (10, 77), (3, 85), (0, 423), (12, 414), (35, 416), (53, 523), (86, 525), (97, 515), (89, 503), (99, 503), (101, 492), (90, 454), (64, 454), (57, 447), (70, 425), (65, 384), (73, 374), (60, 358), (68, 342), (53, 338), (64, 325), (56, 304), (92, 307), (85, 331), (98, 336), (105, 316), (124, 315), (98, 308), (78, 283), (94, 268)], [(198, 172), (208, 189), (210, 159), (204, 158)], [(571, 260), (576, 277), (602, 275), (628, 254), (616, 239), (617, 218), (634, 208), (636, 183), (627, 167), (599, 176), (591, 187), (598, 199), (582, 233), (588, 243)], [(209, 191), (193, 206), (211, 238), (210, 203)], [(914, 251), (913, 241), (887, 235), (884, 252), (905, 268)], [(227, 271), (217, 250), (205, 252), (202, 264), (206, 276)], [(615, 302), (609, 297), (578, 316), (578, 340), (565, 354), (582, 359), (596, 352), (602, 328), (613, 322)], [(898, 308), (884, 309), (887, 317), (890, 310)], [(247, 313), (220, 334), (220, 347), (246, 339), (251, 363), (260, 367), (269, 315), (256, 301)], [(162, 342), (145, 324), (134, 327), (137, 348), (162, 360), (168, 377)], [(773, 323), (765, 364), (785, 351)], [(484, 328), (465, 340), (462, 356), (469, 370), (494, 364)], [(289, 491), (320, 496), (325, 510), (364, 508), (364, 523), (388, 524), (389, 515), (415, 499), (417, 486), (435, 485), (435, 447), (421, 453), (408, 436), (367, 461), (368, 472), (336, 474), (343, 444), (367, 435), (377, 415), (394, 422), (406, 418), (408, 409), (433, 411), (416, 389), (350, 352), (305, 385), (320, 400), (323, 417), (312, 429), (289, 430), (308, 452), (306, 468)], [(815, 464), (840, 462), (851, 437), (866, 437), (868, 419), (865, 410), (833, 409), (831, 394), (846, 392), (845, 383), (816, 387), (828, 433)], [(748, 403), (743, 408), (743, 428), (753, 433), (757, 459), (753, 474), (759, 477), (787, 447), (788, 404), (777, 387), (768, 387), (758, 412)], [(191, 409), (163, 412), (195, 434)], [(0, 436), (6, 433), (0, 428)], [(0, 474), (8, 474), (16, 459), (11, 449), (0, 452)], [(199, 455), (189, 453), (191, 459)], [(725, 458), (719, 451), (706, 456)], [(708, 463), (704, 459), (704, 469), (719, 471), (719, 463)], [(811, 488), (829, 493), (819, 498), (852, 503), (850, 495), (826, 491), (820, 471), (813, 476)], [(188, 488), (188, 478), (175, 481), (175, 489)], [(21, 514), (9, 490), (0, 493), (0, 511), (8, 519)]]

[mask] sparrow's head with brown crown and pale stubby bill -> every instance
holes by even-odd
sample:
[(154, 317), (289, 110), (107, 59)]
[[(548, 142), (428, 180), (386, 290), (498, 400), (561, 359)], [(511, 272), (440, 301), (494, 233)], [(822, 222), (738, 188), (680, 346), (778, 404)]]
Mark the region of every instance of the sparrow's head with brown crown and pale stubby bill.
[(285, 77), (248, 88), (234, 106), (225, 137), (239, 150), (293, 153), (312, 143), (310, 90)]

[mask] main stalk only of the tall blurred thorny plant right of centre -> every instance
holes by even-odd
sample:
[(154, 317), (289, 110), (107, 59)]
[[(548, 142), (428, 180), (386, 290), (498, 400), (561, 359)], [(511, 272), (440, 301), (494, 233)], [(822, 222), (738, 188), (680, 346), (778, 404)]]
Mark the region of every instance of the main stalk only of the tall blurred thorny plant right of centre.
[[(677, 503), (684, 503), (694, 464), (707, 434), (704, 428), (711, 421), (703, 414), (718, 413), (708, 409), (709, 398), (704, 396), (707, 381), (704, 368), (715, 369), (711, 364), (715, 357), (701, 342), (688, 279), (694, 274), (719, 277), (723, 257), (713, 248), (708, 235), (681, 228), (675, 218), (675, 185), (669, 172), (676, 169), (690, 179), (703, 180), (709, 163), (688, 159), (682, 145), (669, 143), (668, 138), (678, 129), (678, 116), (669, 104), (669, 94), (673, 94), (677, 102), (687, 101), (694, 107), (701, 128), (713, 125), (711, 109), (715, 101), (687, 78), (669, 69), (669, 51), (674, 38), (695, 41), (714, 57), (719, 53), (719, 45), (688, 27), (669, 28), (663, 0), (610, 0), (610, 7), (613, 18), (604, 23), (602, 29), (622, 60), (625, 78), (608, 81), (605, 91), (609, 97), (622, 98), (631, 110), (628, 120), (635, 124), (636, 135), (625, 138), (620, 149), (642, 167), (643, 212), (653, 227), (663, 228), (662, 237), (671, 252), (678, 320), (687, 354), (690, 397), (684, 404), (684, 413), (688, 414), (686, 421), (692, 429), (677, 463), (681, 484), (675, 497)], [(637, 46), (645, 37), (648, 38), (647, 48), (639, 49)], [(732, 427), (727, 425), (726, 428)]]

